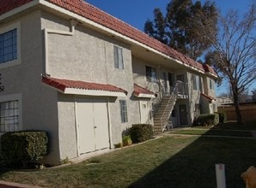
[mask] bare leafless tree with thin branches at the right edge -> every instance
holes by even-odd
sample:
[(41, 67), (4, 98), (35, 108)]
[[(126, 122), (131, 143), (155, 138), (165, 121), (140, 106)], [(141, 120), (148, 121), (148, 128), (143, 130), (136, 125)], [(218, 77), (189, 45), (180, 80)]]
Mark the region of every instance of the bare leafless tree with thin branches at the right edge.
[[(219, 33), (214, 49), (205, 56), (219, 75), (231, 85), (238, 123), (242, 124), (239, 96), (256, 79), (256, 3), (252, 3), (241, 19), (238, 12), (230, 10), (220, 19)], [(210, 34), (208, 35), (210, 38)]]

